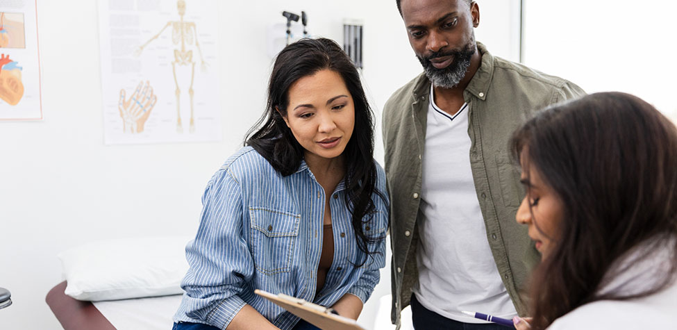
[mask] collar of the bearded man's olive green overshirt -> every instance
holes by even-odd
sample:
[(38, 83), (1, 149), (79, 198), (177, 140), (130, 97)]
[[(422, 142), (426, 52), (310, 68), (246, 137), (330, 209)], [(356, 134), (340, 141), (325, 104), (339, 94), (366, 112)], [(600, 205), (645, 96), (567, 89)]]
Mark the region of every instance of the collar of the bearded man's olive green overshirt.
[[(470, 83), (468, 83), (465, 91), (473, 94), (478, 99), (485, 100), (489, 91), (489, 85), (494, 76), (494, 56), (489, 53), (487, 47), (481, 42), (477, 42), (477, 51), (482, 55), (480, 67), (475, 72)], [(415, 79), (414, 88), (412, 89), (414, 100), (418, 101), (420, 97), (428, 97), (430, 95), (430, 88), (431, 82), (428, 80), (426, 73), (419, 74)], [(467, 101), (468, 97), (465, 97), (465, 99)]]

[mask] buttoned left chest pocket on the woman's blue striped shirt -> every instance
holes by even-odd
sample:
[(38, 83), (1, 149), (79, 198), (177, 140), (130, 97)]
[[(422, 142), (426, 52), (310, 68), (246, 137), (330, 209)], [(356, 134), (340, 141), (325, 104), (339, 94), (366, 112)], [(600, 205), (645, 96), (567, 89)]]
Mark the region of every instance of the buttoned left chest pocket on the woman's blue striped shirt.
[(264, 274), (290, 272), (301, 215), (271, 208), (249, 208), (254, 267)]

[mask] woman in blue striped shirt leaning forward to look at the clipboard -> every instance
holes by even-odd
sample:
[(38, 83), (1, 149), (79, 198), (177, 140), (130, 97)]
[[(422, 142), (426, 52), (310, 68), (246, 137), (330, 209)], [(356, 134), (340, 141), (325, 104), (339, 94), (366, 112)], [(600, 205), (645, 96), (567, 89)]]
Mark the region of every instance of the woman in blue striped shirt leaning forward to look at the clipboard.
[(285, 47), (264, 115), (203, 195), (174, 329), (314, 329), (255, 289), (357, 319), (385, 265), (373, 131), (360, 76), (335, 42)]

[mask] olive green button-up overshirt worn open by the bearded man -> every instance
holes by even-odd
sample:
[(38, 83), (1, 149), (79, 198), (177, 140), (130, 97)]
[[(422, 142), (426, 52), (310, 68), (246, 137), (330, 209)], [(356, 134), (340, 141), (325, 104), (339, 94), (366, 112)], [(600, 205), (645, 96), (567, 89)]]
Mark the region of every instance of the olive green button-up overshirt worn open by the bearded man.
[[(515, 222), (524, 190), (508, 141), (535, 111), (585, 92), (565, 79), (492, 56), (483, 44), (477, 46), (482, 54), (481, 64), (463, 92), (469, 106), (468, 157), (487, 228), (487, 243), (517, 312), (525, 315), (526, 302), (519, 292), (540, 256), (527, 236), (526, 226)], [(393, 254), (391, 318), (398, 327), (400, 311), (408, 306), (412, 287), (418, 281), (416, 223), (430, 85), (421, 74), (394, 92), (383, 108)]]

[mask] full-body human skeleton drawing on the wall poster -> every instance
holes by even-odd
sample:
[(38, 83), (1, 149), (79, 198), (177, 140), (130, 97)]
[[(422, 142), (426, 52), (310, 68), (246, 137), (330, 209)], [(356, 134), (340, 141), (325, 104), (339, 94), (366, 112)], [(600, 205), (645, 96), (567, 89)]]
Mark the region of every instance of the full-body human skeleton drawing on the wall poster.
[(160, 30), (160, 32), (143, 44), (139, 49), (137, 49), (137, 55), (140, 55), (145, 47), (153, 40), (156, 40), (162, 32), (165, 31), (169, 26), (172, 26), (172, 42), (175, 45), (181, 44), (180, 49), (174, 49), (174, 61), (172, 61), (172, 73), (174, 74), (174, 83), (176, 84), (176, 131), (178, 133), (183, 133), (183, 126), (181, 124), (181, 88), (179, 86), (178, 80), (176, 79), (176, 67), (177, 66), (187, 66), (190, 67), (190, 86), (188, 87), (188, 96), (190, 97), (190, 133), (195, 131), (195, 122), (194, 122), (194, 108), (193, 108), (193, 80), (195, 75), (195, 62), (193, 60), (193, 51), (187, 46), (195, 45), (197, 49), (202, 71), (206, 71), (206, 63), (202, 56), (202, 51), (200, 50), (199, 42), (197, 41), (197, 31), (194, 22), (185, 22), (183, 16), (185, 15), (185, 1), (177, 1), (178, 8), (178, 21), (167, 22), (165, 27)]

